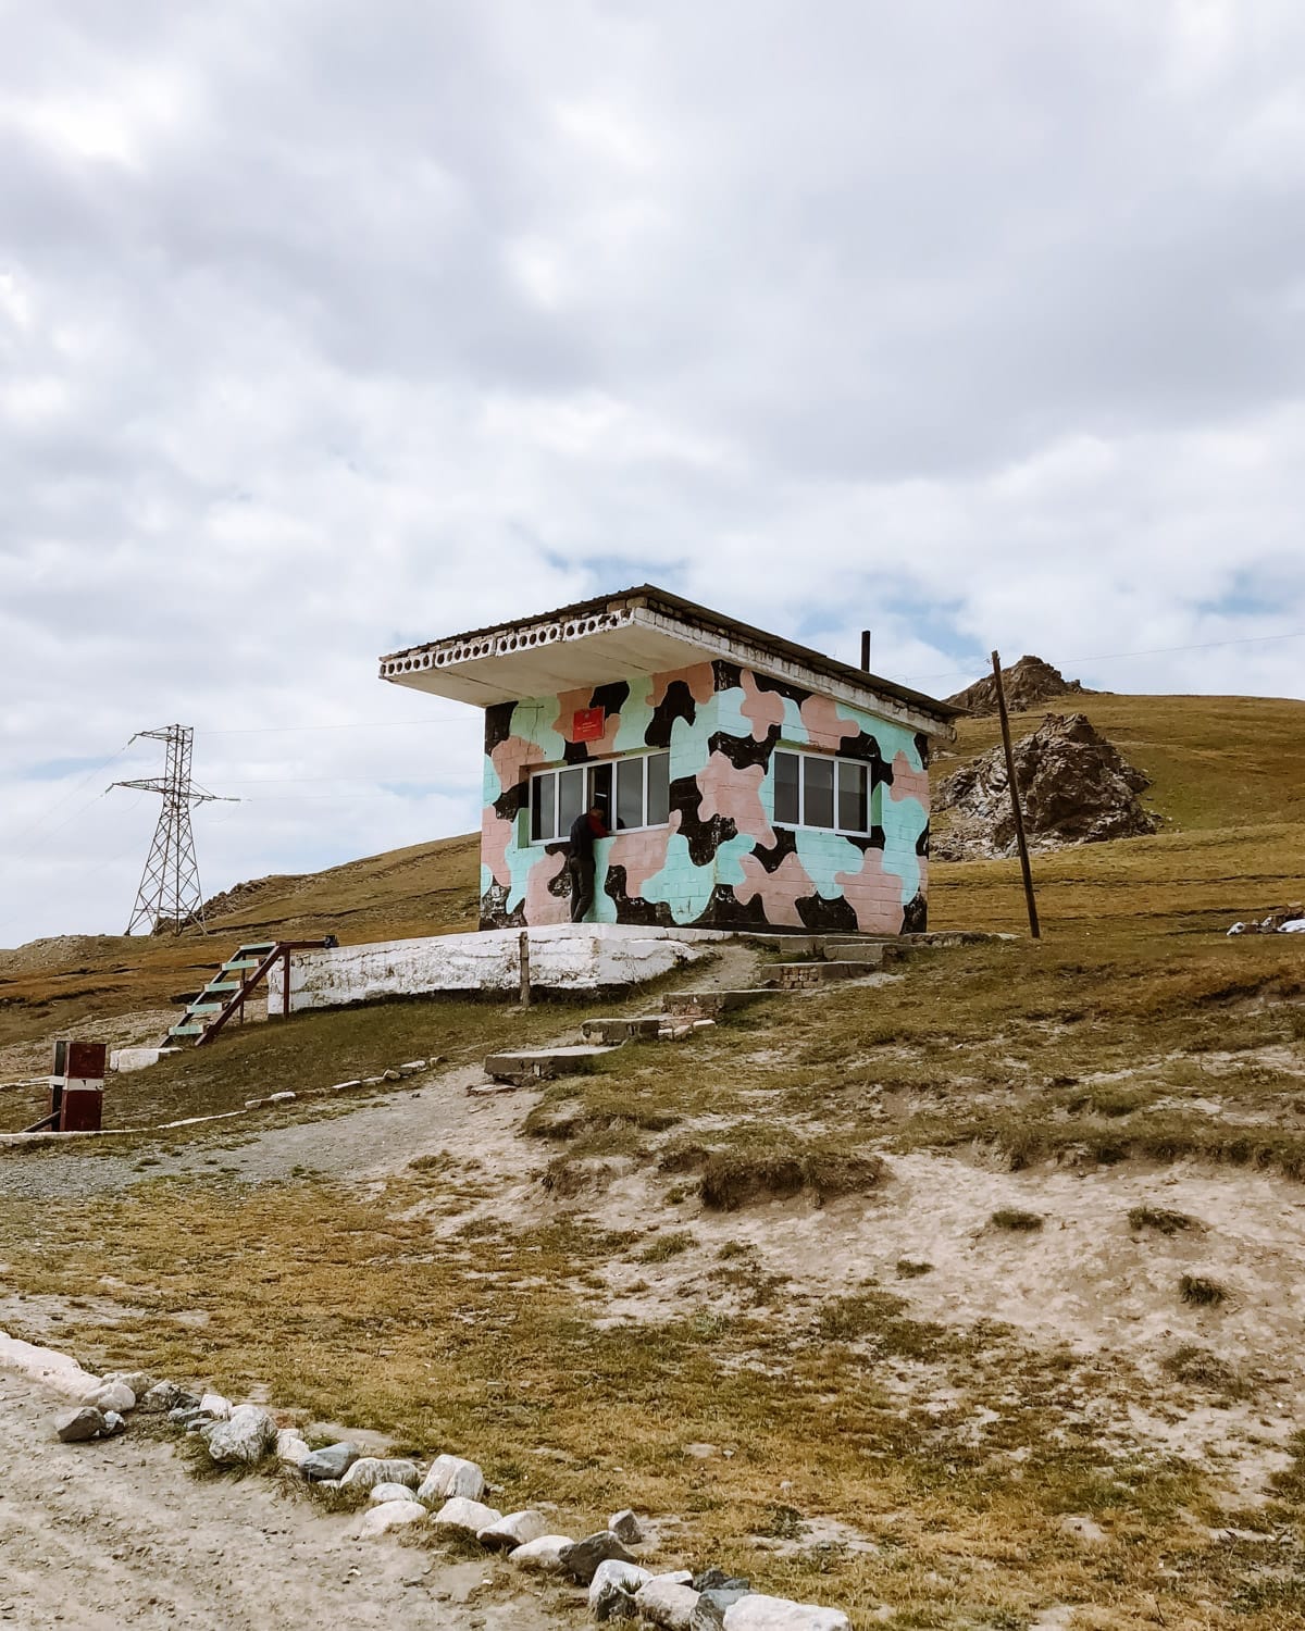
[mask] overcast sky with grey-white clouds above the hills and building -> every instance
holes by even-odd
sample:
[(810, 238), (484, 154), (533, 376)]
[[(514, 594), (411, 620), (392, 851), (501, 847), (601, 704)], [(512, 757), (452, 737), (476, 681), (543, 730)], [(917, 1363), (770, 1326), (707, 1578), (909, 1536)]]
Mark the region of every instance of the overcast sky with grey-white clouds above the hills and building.
[(480, 714), (375, 659), (641, 581), (938, 693), (1305, 695), (1300, 0), (0, 38), (0, 944), (126, 926), (142, 727), (241, 798), (207, 892), (468, 830)]

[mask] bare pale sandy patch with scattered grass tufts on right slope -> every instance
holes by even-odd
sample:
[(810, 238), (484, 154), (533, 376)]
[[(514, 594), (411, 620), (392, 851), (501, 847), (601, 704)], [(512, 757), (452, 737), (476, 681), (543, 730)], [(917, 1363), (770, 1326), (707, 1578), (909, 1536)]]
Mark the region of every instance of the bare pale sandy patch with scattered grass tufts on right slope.
[[(613, 1262), (605, 1321), (657, 1323), (685, 1306), (747, 1303), (767, 1277), (786, 1319), (866, 1282), (907, 1300), (915, 1318), (951, 1328), (992, 1321), (1034, 1349), (1068, 1347), (1101, 1373), (1067, 1419), (1091, 1421), (1103, 1448), (1147, 1447), (1191, 1460), (1230, 1501), (1254, 1502), (1305, 1411), (1305, 1191), (1266, 1173), (1121, 1165), (1091, 1173), (1013, 1174), (940, 1155), (889, 1161), (871, 1196), (816, 1207), (776, 1200), (734, 1213), (697, 1200), (669, 1209), (646, 1169), (618, 1176), (584, 1212), (613, 1230), (687, 1231), (697, 1244), (666, 1262)], [(1165, 1236), (1129, 1225), (1140, 1204), (1184, 1212), (1199, 1228)], [(998, 1209), (1044, 1217), (1036, 1231), (992, 1225)], [(750, 1248), (747, 1272), (723, 1284), (721, 1248)], [(900, 1277), (899, 1261), (930, 1264)], [(1184, 1274), (1227, 1292), (1215, 1306), (1181, 1297)], [(1246, 1399), (1188, 1386), (1163, 1360), (1196, 1346), (1250, 1383)], [(902, 1370), (902, 1393), (946, 1414), (930, 1367)], [(975, 1424), (982, 1432), (982, 1424)]]

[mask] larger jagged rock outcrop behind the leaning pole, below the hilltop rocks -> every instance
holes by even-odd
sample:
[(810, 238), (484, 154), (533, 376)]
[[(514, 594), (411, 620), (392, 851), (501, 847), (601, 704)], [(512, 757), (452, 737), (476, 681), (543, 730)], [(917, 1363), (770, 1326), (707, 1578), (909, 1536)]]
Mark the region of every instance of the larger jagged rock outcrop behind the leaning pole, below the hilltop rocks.
[[(1015, 744), (1015, 776), (1029, 846), (1060, 850), (1155, 832), (1137, 794), (1148, 778), (1098, 736), (1085, 714), (1047, 714)], [(1015, 817), (1002, 747), (954, 770), (935, 791), (930, 851), (940, 861), (1015, 855)]]

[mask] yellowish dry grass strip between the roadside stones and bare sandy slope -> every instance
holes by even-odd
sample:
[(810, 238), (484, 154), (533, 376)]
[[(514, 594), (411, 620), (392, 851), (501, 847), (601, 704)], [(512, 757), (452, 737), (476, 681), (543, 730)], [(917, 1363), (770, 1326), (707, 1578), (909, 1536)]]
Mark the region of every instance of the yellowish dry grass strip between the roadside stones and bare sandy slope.
[[(912, 1319), (878, 1287), (829, 1302), (809, 1329), (690, 1302), (649, 1341), (599, 1323), (604, 1298), (577, 1279), (628, 1240), (560, 1222), (432, 1251), (424, 1176), (370, 1199), (153, 1182), (75, 1217), (0, 1202), (0, 1249), (18, 1290), (77, 1298), (109, 1277), (139, 1310), (100, 1328), (70, 1303), (67, 1341), (86, 1357), (235, 1395), (261, 1385), (277, 1406), (388, 1429), (398, 1452), (475, 1453), (504, 1504), (556, 1501), (564, 1528), (625, 1502), (674, 1514), (687, 1528), (666, 1564), (714, 1558), (845, 1603), (860, 1626), (881, 1602), (904, 1624), (1026, 1623), (1067, 1592), (1113, 1626), (1147, 1624), (1157, 1602), (1168, 1624), (1223, 1626), (1210, 1593), (1254, 1584), (1189, 1527), (1215, 1515), (1196, 1473), (1067, 1430), (1088, 1381), (1068, 1357)], [(902, 1408), (902, 1365), (936, 1370), (944, 1412)], [(975, 1432), (980, 1401), (995, 1419)], [(693, 1442), (731, 1453), (700, 1461)], [(878, 1549), (768, 1551), (781, 1505), (794, 1533), (850, 1515)], [(1083, 1553), (1064, 1512), (1119, 1543)], [(1179, 1536), (1188, 1564), (1161, 1577)]]

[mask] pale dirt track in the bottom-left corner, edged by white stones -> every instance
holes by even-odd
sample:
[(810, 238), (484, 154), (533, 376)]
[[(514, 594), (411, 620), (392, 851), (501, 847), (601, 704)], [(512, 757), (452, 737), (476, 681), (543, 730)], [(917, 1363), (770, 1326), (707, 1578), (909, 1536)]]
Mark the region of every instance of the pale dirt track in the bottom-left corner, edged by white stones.
[(0, 1368), (0, 1626), (560, 1624), (532, 1597), (481, 1587), (494, 1566), (354, 1540), (354, 1517), (325, 1515), (263, 1478), (199, 1483), (166, 1443), (137, 1432), (59, 1443), (51, 1421), (65, 1408)]

